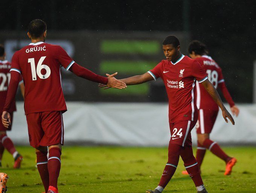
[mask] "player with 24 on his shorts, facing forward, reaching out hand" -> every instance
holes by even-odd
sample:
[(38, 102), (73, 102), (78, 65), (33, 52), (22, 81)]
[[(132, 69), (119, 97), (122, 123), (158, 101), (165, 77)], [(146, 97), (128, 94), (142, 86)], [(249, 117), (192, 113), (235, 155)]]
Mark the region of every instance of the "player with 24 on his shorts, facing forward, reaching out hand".
[[(146, 193), (162, 192), (171, 180), (181, 156), (189, 176), (194, 181), (197, 192), (207, 192), (195, 157), (192, 151), (191, 130), (197, 123), (198, 111), (196, 106), (195, 82), (201, 83), (210, 96), (222, 110), (223, 118), (235, 124), (232, 116), (223, 105), (218, 92), (208, 80), (201, 65), (181, 54), (180, 42), (175, 36), (167, 36), (163, 40), (163, 52), (166, 60), (162, 60), (154, 69), (143, 75), (122, 79), (126, 85), (142, 84), (143, 82), (163, 79), (169, 98), (169, 126), (171, 139), (168, 148), (168, 162), (163, 171), (160, 183), (154, 190)], [(105, 85), (99, 85), (106, 87)]]

